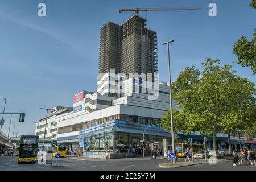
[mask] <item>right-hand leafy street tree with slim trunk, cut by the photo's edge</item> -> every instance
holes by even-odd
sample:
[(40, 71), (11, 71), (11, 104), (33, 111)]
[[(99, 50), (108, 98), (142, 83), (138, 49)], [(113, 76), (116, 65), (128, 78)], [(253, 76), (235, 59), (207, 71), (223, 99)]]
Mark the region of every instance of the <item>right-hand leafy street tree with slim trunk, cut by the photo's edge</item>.
[(228, 133), (229, 151), (230, 133), (240, 130), (247, 130), (254, 126), (256, 120), (255, 87), (254, 83), (234, 75), (225, 86), (226, 97), (229, 100), (226, 105), (222, 127)]

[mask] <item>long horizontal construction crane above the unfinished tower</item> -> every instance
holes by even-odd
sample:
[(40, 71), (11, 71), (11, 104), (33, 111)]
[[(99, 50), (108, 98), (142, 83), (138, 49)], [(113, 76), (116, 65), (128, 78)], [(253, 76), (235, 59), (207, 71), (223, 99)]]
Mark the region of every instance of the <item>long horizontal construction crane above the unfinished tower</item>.
[(139, 11), (181, 11), (181, 10), (201, 10), (201, 7), (176, 7), (176, 8), (141, 8), (137, 7), (136, 9), (120, 9), (119, 13), (134, 11), (135, 15), (139, 15)]

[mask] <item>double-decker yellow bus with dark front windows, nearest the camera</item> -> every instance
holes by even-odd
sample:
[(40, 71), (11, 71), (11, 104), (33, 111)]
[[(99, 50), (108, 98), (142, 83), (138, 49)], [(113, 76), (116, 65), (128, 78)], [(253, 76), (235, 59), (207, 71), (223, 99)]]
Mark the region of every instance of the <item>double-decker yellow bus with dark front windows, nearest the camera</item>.
[(23, 135), (20, 137), (18, 164), (36, 163), (38, 156), (38, 136)]

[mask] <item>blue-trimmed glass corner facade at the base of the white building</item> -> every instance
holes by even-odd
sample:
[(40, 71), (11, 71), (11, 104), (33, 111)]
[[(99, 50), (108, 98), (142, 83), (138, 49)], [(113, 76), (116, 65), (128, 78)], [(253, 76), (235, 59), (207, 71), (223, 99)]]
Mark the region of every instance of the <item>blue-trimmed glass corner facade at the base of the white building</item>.
[[(152, 120), (153, 121), (153, 120)], [(114, 153), (142, 154), (143, 132), (149, 125), (113, 119), (101, 125), (80, 132), (80, 141), (84, 143), (84, 151), (110, 151)], [(102, 132), (101, 132), (102, 131)], [(151, 154), (159, 148), (162, 155), (163, 139), (171, 143), (170, 134), (162, 127), (153, 126), (144, 135), (146, 147), (144, 153)], [(152, 133), (152, 134), (149, 134)], [(166, 136), (164, 136), (166, 135)], [(158, 145), (154, 146), (154, 143)]]

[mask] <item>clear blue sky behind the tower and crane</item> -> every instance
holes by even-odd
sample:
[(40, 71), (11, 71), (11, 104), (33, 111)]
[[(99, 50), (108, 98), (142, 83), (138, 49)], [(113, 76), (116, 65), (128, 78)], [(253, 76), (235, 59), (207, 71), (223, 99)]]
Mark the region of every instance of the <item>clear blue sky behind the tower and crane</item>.
[[(47, 17), (38, 17), (38, 3), (47, 6)], [(217, 4), (217, 17), (210, 18), (208, 5)], [(133, 13), (118, 9), (135, 7), (202, 7), (196, 11), (141, 13), (147, 27), (158, 32), (160, 80), (168, 80), (167, 49), (171, 46), (172, 80), (185, 67), (201, 68), (206, 57), (232, 64), (234, 42), (255, 28), (256, 10), (250, 0), (0, 0), (0, 97), (7, 98), (7, 112), (26, 113), (17, 123), (19, 134), (34, 134), (35, 123), (45, 115), (39, 107), (72, 106), (81, 90), (96, 92), (100, 28), (108, 21), (121, 24)], [(255, 82), (250, 68), (235, 65), (237, 75)], [(4, 100), (0, 100), (0, 113)], [(8, 133), (9, 119), (3, 131)], [(18, 117), (13, 117), (18, 121)], [(11, 135), (13, 125), (11, 125)]]

